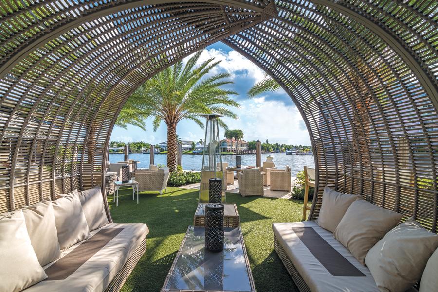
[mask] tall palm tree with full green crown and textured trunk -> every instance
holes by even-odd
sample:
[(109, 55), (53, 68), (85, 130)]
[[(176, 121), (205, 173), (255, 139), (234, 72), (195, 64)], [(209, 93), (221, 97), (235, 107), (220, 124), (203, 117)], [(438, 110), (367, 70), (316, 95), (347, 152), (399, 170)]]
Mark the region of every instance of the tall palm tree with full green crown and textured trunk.
[[(171, 172), (177, 168), (178, 122), (188, 119), (203, 128), (201, 115), (216, 113), (237, 119), (237, 115), (227, 108), (240, 106), (230, 97), (237, 93), (221, 88), (233, 83), (230, 74), (206, 76), (220, 61), (210, 58), (197, 66), (200, 56), (201, 51), (195, 53), (185, 66), (179, 61), (147, 80), (128, 98), (127, 107), (122, 109), (125, 113), (117, 119), (116, 124), (123, 126), (131, 123), (129, 117), (134, 123), (152, 118), (154, 131), (163, 121), (167, 125), (167, 166)], [(222, 120), (219, 119), (218, 123), (226, 128)]]

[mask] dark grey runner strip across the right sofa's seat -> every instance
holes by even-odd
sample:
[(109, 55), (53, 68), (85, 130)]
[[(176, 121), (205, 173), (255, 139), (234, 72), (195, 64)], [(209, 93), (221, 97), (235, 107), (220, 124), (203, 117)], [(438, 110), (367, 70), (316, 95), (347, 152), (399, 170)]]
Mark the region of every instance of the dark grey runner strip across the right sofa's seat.
[(331, 275), (365, 277), (364, 273), (344, 258), (312, 227), (292, 227), (292, 230)]

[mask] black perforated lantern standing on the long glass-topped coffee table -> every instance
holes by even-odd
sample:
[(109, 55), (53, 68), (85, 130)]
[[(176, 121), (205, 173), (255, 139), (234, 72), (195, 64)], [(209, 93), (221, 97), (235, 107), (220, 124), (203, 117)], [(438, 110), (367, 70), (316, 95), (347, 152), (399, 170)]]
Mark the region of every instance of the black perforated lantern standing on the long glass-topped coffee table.
[(222, 204), (207, 204), (205, 207), (205, 249), (212, 252), (223, 250)]

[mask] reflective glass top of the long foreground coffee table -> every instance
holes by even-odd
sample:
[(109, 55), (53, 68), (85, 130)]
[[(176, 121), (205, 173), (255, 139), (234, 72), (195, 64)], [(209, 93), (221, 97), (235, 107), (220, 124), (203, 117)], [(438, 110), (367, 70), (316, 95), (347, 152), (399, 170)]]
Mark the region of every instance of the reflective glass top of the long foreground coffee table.
[(224, 228), (224, 249), (204, 248), (204, 227), (189, 226), (161, 292), (255, 292), (240, 227)]

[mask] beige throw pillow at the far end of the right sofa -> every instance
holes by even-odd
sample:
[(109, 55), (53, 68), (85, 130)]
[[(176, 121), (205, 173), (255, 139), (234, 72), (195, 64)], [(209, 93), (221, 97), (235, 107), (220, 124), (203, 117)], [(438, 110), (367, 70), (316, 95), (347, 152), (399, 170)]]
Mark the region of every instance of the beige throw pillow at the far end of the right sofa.
[(351, 203), (360, 199), (360, 195), (343, 194), (326, 186), (316, 223), (322, 228), (334, 232)]

